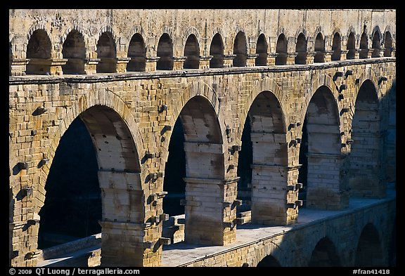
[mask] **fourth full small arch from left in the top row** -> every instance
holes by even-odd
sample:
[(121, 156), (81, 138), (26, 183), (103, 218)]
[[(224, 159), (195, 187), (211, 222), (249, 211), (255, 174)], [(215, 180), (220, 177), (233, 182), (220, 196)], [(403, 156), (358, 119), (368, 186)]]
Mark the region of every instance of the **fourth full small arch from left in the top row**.
[(136, 33), (131, 37), (128, 47), (129, 63), (127, 64), (127, 71), (141, 72), (146, 68), (146, 46), (141, 34)]

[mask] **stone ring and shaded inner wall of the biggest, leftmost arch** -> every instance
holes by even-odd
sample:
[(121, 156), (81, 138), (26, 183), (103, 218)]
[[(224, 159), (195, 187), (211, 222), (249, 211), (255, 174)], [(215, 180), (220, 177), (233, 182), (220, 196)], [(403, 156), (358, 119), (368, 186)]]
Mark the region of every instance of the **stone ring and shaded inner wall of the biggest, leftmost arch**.
[[(103, 209), (101, 265), (142, 266), (145, 189), (139, 153), (143, 152), (143, 144), (134, 117), (117, 95), (89, 90), (72, 105), (51, 138), (46, 152), (49, 162), (41, 166), (39, 192), (45, 194), (44, 182), (60, 138), (77, 117), (90, 133), (98, 161)], [(124, 238), (129, 233), (131, 241)]]

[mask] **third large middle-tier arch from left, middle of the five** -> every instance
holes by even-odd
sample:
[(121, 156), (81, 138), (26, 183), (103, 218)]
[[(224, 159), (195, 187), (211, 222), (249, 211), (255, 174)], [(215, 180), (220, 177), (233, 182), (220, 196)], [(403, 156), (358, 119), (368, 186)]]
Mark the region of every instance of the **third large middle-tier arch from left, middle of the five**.
[[(274, 93), (262, 91), (256, 96), (250, 105), (246, 126), (249, 126), (250, 133), (243, 130), (244, 152), (240, 153), (250, 155), (252, 164), (246, 164), (248, 159), (238, 159), (238, 167), (241, 167), (238, 176), (241, 177), (240, 192), (245, 197), (248, 198), (251, 189), (252, 223), (285, 225), (288, 221), (285, 188), (291, 171), (283, 111)], [(251, 153), (248, 145), (252, 146)], [(248, 185), (250, 179), (251, 188)]]

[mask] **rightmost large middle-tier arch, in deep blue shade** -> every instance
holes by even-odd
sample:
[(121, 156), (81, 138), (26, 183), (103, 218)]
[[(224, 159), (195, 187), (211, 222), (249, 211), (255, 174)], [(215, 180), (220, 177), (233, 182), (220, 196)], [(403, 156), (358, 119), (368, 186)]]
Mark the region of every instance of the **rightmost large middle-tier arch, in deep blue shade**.
[(381, 176), (379, 100), (371, 80), (361, 84), (352, 119), (349, 185), (355, 197), (384, 197)]

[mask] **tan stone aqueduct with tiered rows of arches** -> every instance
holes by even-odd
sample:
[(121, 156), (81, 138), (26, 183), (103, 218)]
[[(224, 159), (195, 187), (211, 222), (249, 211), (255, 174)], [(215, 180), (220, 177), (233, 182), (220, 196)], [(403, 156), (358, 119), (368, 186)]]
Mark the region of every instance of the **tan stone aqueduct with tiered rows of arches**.
[[(393, 10), (9, 10), (10, 264), (37, 264), (46, 178), (77, 117), (98, 160), (102, 265), (162, 265), (178, 118), (188, 243), (236, 241), (247, 117), (252, 223), (297, 222), (304, 121), (306, 208), (384, 198), (395, 178), (395, 20)], [(388, 239), (393, 208), (385, 224), (356, 228)]]

